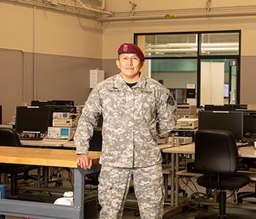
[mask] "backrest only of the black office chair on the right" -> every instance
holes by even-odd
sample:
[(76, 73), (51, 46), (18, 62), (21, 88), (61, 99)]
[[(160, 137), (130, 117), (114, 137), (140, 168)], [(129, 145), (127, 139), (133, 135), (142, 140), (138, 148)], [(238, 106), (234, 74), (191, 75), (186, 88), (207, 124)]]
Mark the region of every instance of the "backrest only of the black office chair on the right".
[(226, 130), (200, 129), (195, 134), (195, 169), (203, 174), (235, 174), (238, 150)]

